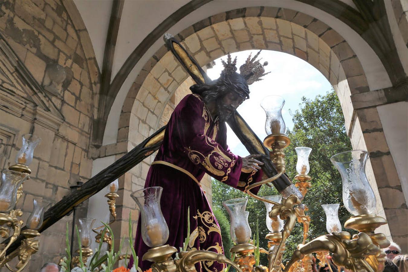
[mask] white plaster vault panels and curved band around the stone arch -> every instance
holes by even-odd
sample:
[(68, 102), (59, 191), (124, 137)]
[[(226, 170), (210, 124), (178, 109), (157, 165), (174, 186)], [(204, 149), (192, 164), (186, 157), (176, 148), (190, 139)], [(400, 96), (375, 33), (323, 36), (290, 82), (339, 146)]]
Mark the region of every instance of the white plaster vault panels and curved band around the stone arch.
[[(102, 64), (103, 51), (106, 41), (106, 33), (109, 27), (110, 11), (112, 6), (111, 0), (74, 0), (77, 4), (82, 18), (85, 22), (95, 54), (97, 55), (98, 64)], [(351, 0), (342, 0), (353, 8)], [(122, 19), (118, 33), (118, 40), (115, 48), (115, 58), (113, 63), (112, 78), (120, 69), (126, 58), (137, 47), (140, 42), (148, 35), (158, 24), (165, 18), (169, 17), (174, 11), (188, 3), (188, 0), (125, 0)], [(318, 20), (328, 24), (340, 35), (342, 35), (350, 44), (353, 51), (363, 66), (366, 73), (368, 84), (371, 90), (386, 88), (391, 86), (388, 74), (384, 66), (375, 54), (373, 49), (357, 34), (353, 29), (348, 27), (344, 22), (333, 17), (332, 15), (317, 9), (316, 7), (298, 2), (296, 0), (214, 0), (204, 4), (200, 8), (186, 15), (182, 20), (170, 27), (166, 32), (177, 34), (192, 24), (199, 22), (211, 15), (238, 9), (243, 7), (282, 7), (293, 9), (311, 15)], [(143, 67), (144, 63), (162, 46), (163, 39), (160, 37), (141, 57), (135, 65), (128, 78), (125, 80), (115, 102), (111, 107), (103, 144), (116, 142), (117, 127), (119, 122), (120, 111), (122, 109), (126, 93)]]

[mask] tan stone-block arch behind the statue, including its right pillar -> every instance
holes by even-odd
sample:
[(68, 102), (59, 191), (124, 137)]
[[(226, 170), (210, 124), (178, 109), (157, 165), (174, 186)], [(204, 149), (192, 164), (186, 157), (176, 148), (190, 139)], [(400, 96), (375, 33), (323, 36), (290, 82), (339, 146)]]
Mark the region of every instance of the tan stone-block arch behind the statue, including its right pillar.
[[(259, 7), (247, 8), (244, 16), (241, 10), (214, 15), (184, 29), (176, 38), (203, 66), (228, 52), (247, 49), (282, 51), (312, 64), (339, 96), (353, 148), (370, 152), (367, 173), (377, 199), (392, 199), (391, 193), (401, 194), (399, 199), (404, 199), (401, 190), (390, 192), (387, 188), (395, 180), (399, 182), (399, 177), (377, 108), (372, 107), (376, 104), (367, 102), (378, 93), (370, 91), (364, 69), (348, 42), (330, 26), (309, 15), (278, 9), (257, 16), (256, 11)], [(276, 18), (278, 13), (285, 14), (285, 19)], [(162, 46), (146, 62), (129, 90), (120, 115), (118, 144), (127, 142), (130, 150), (151, 135), (157, 129), (164, 105), (186, 78), (188, 74)], [(126, 174), (124, 179), (129, 187), (125, 190), (130, 192), (143, 186), (152, 159), (147, 158)], [(385, 203), (383, 207), (378, 201), (377, 209), (387, 217), (391, 230), (399, 225), (399, 215), (405, 216), (395, 203)], [(380, 231), (390, 237), (388, 226)], [(395, 233), (399, 235), (398, 231)]]

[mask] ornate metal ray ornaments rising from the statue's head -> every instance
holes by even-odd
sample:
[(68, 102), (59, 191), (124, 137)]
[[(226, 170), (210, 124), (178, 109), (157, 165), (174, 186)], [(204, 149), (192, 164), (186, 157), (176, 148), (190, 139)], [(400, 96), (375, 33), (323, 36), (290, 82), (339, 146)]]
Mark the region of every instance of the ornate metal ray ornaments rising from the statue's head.
[[(244, 76), (246, 82), (248, 85), (251, 85), (255, 81), (262, 80), (264, 75), (267, 75), (268, 73), (265, 73), (264, 66), (268, 65), (268, 62), (264, 62), (262, 65), (259, 61), (262, 59), (257, 60), (256, 58), (258, 57), (259, 53), (261, 53), (262, 50), (259, 50), (258, 53), (251, 59), (251, 54), (249, 54), (248, 58), (246, 59), (246, 62), (239, 67), (239, 72), (242, 76)], [(221, 60), (222, 65), (224, 65), (224, 70), (222, 71), (224, 75), (232, 75), (235, 71), (237, 71), (237, 57), (232, 61), (231, 59), (231, 54), (228, 53), (227, 57), (227, 62), (224, 60)]]

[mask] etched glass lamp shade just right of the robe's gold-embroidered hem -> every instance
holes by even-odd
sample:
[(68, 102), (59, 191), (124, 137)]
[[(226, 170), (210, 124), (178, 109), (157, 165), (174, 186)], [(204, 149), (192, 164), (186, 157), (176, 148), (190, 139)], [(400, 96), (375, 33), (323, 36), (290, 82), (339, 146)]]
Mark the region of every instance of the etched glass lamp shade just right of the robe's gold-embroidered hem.
[(222, 202), (231, 219), (231, 239), (237, 244), (248, 243), (251, 239), (252, 232), (248, 223), (249, 212), (245, 211), (247, 201), (246, 198), (235, 198)]

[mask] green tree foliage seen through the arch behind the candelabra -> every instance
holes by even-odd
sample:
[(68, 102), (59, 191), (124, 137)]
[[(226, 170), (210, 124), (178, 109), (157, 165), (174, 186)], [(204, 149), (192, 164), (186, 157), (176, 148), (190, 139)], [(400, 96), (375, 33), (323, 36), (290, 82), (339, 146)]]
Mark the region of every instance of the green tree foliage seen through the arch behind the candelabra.
[[(295, 177), (297, 155), (296, 146), (308, 146), (313, 148), (310, 154), (310, 172), (312, 187), (308, 190), (303, 203), (309, 210), (306, 215), (311, 218), (308, 241), (322, 234), (326, 234), (326, 216), (322, 204), (340, 203), (339, 218), (342, 224), (350, 217), (344, 208), (341, 197), (341, 177), (339, 172), (330, 162), (330, 157), (347, 150), (351, 150), (350, 139), (346, 135), (344, 117), (337, 95), (334, 91), (326, 95), (318, 95), (314, 100), (302, 97), (300, 109), (291, 113), (293, 117), (293, 130), (288, 130), (290, 146), (284, 151), (286, 154), (286, 173), (289, 177)], [(262, 186), (259, 195), (277, 195), (275, 188)], [(221, 209), (226, 216), (226, 210), (222, 207), (222, 201), (246, 197), (246, 195), (218, 181), (213, 181), (213, 206)], [(266, 209), (262, 202), (253, 198), (248, 199), (248, 221), (251, 229), (255, 232), (255, 222), (259, 219), (259, 237), (261, 247), (267, 247), (268, 233), (265, 218)], [(350, 230), (348, 230), (350, 231)], [(287, 240), (284, 252), (284, 261), (288, 261), (297, 244), (302, 243), (303, 227), (296, 226)], [(224, 245), (225, 246), (225, 245)], [(267, 263), (266, 255), (262, 254), (261, 264)]]

